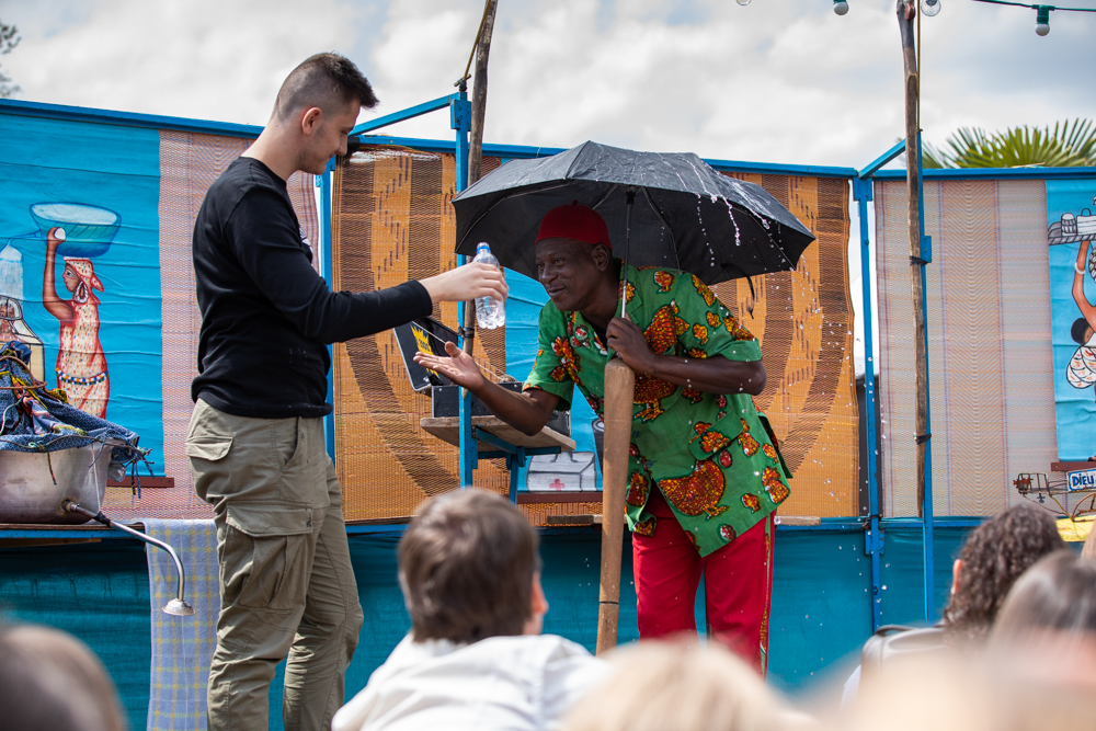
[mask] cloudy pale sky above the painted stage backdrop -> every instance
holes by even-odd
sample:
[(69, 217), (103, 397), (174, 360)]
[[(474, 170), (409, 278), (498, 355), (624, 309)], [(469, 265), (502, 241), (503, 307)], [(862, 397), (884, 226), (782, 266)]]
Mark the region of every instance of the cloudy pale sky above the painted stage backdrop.
[[(922, 126), (1096, 117), (1096, 13), (940, 0), (922, 20)], [(719, 160), (863, 168), (904, 136), (892, 0), (499, 0), (484, 140), (587, 139)], [(1096, 8), (1096, 0), (1075, 0)], [(22, 43), (15, 99), (262, 125), (302, 59), (336, 50), (374, 84), (361, 121), (454, 91), (482, 0), (0, 0)], [(386, 134), (450, 139), (443, 112)], [(858, 224), (849, 279), (863, 373)]]

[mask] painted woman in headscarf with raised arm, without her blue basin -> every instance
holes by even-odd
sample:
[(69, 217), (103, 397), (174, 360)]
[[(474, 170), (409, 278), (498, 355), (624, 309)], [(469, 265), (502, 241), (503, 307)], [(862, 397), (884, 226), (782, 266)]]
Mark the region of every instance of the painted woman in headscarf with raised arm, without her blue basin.
[(105, 419), (106, 402), (111, 399), (111, 378), (106, 372), (106, 355), (99, 341), (99, 297), (94, 292), (103, 292), (103, 285), (95, 276), (90, 259), (66, 256), (61, 278), (72, 298), (57, 296), (54, 267), (57, 247), (64, 242), (65, 229), (49, 229), (42, 281), (42, 304), (60, 322), (57, 387), (65, 389), (70, 404)]

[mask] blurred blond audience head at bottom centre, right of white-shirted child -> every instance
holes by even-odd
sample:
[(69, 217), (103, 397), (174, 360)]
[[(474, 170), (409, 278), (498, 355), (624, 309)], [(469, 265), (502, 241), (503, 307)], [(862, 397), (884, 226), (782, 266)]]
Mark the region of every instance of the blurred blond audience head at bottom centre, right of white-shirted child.
[(640, 642), (568, 713), (566, 731), (769, 731), (776, 699), (745, 662), (715, 642)]

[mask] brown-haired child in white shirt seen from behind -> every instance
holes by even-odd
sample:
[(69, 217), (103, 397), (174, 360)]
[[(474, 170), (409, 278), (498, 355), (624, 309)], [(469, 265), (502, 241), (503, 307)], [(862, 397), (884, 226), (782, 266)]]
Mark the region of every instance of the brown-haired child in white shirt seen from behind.
[(482, 490), (435, 498), (399, 547), (411, 631), (334, 716), (334, 731), (558, 728), (606, 664), (541, 635), (536, 532)]

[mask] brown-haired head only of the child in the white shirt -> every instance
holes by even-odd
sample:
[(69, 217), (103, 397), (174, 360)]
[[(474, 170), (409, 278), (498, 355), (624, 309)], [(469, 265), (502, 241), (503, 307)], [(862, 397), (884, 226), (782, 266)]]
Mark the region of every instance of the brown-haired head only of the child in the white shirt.
[(548, 612), (536, 530), (483, 490), (422, 506), (400, 541), (399, 579), (416, 642), (536, 635)]

